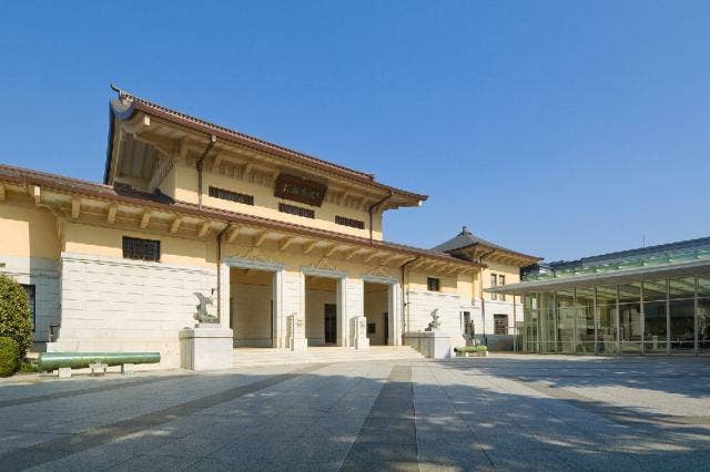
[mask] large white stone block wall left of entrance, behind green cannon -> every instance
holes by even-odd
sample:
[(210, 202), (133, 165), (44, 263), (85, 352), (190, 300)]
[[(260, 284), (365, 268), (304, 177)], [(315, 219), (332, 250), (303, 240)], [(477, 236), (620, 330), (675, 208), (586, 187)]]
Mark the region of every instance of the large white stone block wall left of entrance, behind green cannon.
[(48, 349), (159, 351), (153, 368), (180, 367), (179, 331), (195, 325), (194, 294), (216, 288), (216, 267), (64, 253), (61, 271), (61, 328)]

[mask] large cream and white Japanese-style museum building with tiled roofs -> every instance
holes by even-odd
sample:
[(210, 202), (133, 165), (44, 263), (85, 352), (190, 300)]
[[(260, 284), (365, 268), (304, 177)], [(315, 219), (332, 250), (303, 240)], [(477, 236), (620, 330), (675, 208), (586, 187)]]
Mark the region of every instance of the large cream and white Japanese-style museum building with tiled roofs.
[(519, 297), (485, 290), (539, 258), (467, 229), (384, 240), (385, 212), (426, 199), (119, 91), (103, 183), (0, 165), (0, 273), (26, 287), (36, 349), (161, 368), (184, 365), (200, 314), (234, 352), (410, 345), (434, 316), (452, 347), (511, 336)]

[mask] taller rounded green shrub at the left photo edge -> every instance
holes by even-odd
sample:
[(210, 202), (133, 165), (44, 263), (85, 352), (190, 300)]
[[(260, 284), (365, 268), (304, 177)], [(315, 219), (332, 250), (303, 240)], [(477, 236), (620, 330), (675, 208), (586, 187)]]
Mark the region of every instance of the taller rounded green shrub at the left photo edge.
[(6, 275), (0, 275), (0, 337), (14, 339), (24, 359), (32, 342), (30, 306), (22, 286)]

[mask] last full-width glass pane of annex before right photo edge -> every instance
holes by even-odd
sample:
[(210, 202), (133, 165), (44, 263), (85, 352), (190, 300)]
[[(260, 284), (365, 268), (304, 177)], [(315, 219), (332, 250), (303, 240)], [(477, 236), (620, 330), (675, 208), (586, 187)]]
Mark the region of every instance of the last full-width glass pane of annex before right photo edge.
[(696, 278), (671, 279), (668, 299), (670, 348), (692, 350), (696, 340)]

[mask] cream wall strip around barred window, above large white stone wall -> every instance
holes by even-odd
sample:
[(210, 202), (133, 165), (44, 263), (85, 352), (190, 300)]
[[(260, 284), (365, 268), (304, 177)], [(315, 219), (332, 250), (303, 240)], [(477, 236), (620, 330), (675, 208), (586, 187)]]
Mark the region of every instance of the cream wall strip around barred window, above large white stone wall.
[(123, 257), (123, 236), (160, 240), (161, 263), (211, 267), (216, 264), (216, 242), (213, 237), (205, 240), (183, 239), (150, 232), (70, 222), (64, 225), (64, 250), (72, 254), (121, 258)]

